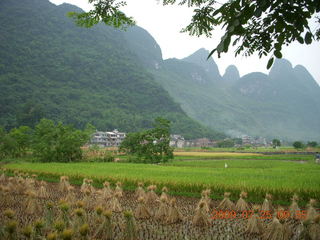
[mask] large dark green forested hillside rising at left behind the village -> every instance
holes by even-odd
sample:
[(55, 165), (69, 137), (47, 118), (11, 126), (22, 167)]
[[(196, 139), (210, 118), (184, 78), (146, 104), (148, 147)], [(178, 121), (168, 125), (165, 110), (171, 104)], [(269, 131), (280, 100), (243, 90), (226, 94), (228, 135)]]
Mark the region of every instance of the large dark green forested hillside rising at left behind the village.
[(90, 122), (136, 131), (161, 116), (187, 138), (223, 136), (183, 112), (127, 47), (123, 32), (78, 27), (66, 16), (70, 11), (80, 9), (47, 0), (0, 2), (0, 125), (33, 126), (46, 117), (79, 128)]

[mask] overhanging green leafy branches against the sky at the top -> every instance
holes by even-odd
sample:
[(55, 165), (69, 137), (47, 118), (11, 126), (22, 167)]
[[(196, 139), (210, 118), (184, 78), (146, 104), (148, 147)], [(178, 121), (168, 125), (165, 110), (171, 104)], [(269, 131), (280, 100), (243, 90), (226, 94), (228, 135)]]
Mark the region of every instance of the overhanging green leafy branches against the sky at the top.
[[(282, 58), (282, 46), (293, 41), (311, 44), (320, 39), (320, 27), (310, 28), (310, 20), (320, 23), (320, 1), (318, 0), (233, 0), (221, 4), (215, 0), (163, 0), (163, 5), (188, 5), (194, 8), (191, 23), (182, 31), (190, 35), (212, 37), (215, 27), (222, 26), (225, 32), (219, 44), (209, 57), (217, 52), (228, 52), (230, 44), (237, 46), (235, 55), (243, 53), (259, 57), (272, 53), (267, 67), (270, 68), (274, 56)], [(79, 25), (91, 27), (103, 21), (114, 27), (134, 24), (131, 17), (121, 12), (125, 5), (116, 0), (89, 0), (94, 9), (88, 13), (70, 13)]]

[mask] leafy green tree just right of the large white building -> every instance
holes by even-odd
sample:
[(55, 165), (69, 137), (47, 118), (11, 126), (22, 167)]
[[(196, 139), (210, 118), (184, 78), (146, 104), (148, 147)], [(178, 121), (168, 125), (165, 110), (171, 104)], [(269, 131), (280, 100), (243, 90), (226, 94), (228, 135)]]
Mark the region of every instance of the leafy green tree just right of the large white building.
[(169, 143), (170, 121), (157, 118), (154, 128), (129, 133), (121, 143), (119, 150), (145, 163), (167, 162), (173, 158), (173, 148)]

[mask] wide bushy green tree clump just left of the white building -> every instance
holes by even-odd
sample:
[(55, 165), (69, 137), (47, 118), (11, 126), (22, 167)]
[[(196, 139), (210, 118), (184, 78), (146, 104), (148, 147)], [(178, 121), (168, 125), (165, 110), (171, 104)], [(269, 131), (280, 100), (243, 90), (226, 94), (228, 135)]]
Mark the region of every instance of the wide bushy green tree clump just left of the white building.
[(35, 127), (34, 154), (44, 162), (73, 162), (82, 159), (81, 147), (88, 142), (92, 128), (77, 130), (61, 122), (42, 119)]

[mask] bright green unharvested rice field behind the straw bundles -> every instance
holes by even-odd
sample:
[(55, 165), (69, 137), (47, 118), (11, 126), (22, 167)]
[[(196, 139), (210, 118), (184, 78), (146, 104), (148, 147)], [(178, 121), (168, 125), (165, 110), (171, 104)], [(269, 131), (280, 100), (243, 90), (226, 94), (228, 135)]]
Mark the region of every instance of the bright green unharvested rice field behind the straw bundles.
[[(225, 168), (227, 164), (227, 168)], [(256, 160), (194, 160), (173, 161), (165, 165), (134, 163), (11, 163), (6, 168), (36, 173), (44, 179), (57, 181), (61, 175), (81, 183), (92, 178), (96, 186), (105, 180), (125, 182), (134, 189), (137, 182), (169, 186), (172, 194), (199, 196), (203, 188), (212, 190), (219, 199), (230, 191), (237, 198), (241, 191), (249, 193), (250, 201), (259, 201), (266, 192), (276, 201), (289, 202), (297, 193), (304, 202), (320, 199), (320, 166), (311, 162)]]

